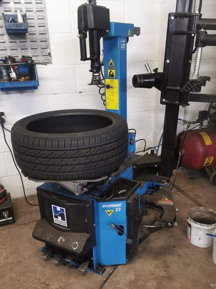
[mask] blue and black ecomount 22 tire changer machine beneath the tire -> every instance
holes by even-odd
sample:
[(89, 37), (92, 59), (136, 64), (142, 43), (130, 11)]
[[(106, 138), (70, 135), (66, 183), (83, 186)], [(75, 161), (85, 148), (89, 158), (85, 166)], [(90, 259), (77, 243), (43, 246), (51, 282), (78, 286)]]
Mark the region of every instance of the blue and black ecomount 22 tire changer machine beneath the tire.
[[(106, 110), (126, 119), (126, 45), (130, 37), (140, 34), (140, 28), (110, 22), (109, 9), (98, 6), (96, 0), (88, 2), (78, 7), (81, 60), (91, 62), (90, 84), (106, 87)], [(54, 263), (61, 261), (68, 263), (70, 268), (102, 274), (104, 266), (125, 264), (133, 257), (142, 242), (141, 234), (145, 237), (177, 225), (178, 210), (174, 206), (169, 179), (174, 169), (179, 106), (189, 105), (188, 101), (208, 101), (205, 95), (197, 99), (190, 93), (198, 92), (196, 89), (201, 89), (206, 80), (210, 80), (197, 77), (198, 71), (195, 78), (189, 80), (190, 63), (195, 34), (200, 47), (200, 36), (207, 34), (201, 28), (216, 29), (212, 19), (202, 19), (200, 13), (190, 12), (193, 3), (192, 0), (178, 0), (176, 13), (169, 14), (163, 73), (156, 69), (153, 74), (148, 68), (149, 73), (133, 78), (134, 87), (155, 86), (162, 92), (161, 104), (166, 105), (166, 112), (161, 156), (154, 154), (154, 150), (144, 156), (135, 154), (135, 133), (129, 132), (128, 157), (118, 171), (97, 180), (47, 181), (38, 186), (41, 219), (36, 223), (33, 238), (45, 243), (41, 248), (43, 258), (50, 256)], [(212, 37), (205, 36), (205, 45), (210, 45)], [(103, 63), (100, 61), (101, 38)], [(104, 82), (100, 77), (102, 64)], [(91, 191), (91, 197), (84, 192), (92, 183), (98, 183), (100, 189)], [(117, 196), (112, 196), (113, 187)], [(101, 199), (100, 191), (111, 196)], [(157, 210), (160, 217), (151, 226), (142, 226), (148, 208)], [(145, 230), (143, 233), (141, 227)]]

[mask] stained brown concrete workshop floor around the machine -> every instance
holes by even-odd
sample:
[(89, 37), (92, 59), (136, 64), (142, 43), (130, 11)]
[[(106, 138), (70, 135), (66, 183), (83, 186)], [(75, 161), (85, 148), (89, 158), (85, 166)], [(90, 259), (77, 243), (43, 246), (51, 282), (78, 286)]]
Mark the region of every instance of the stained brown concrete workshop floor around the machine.
[[(207, 176), (178, 173), (176, 181), (183, 195), (174, 190), (178, 226), (151, 234), (138, 248), (134, 258), (119, 266), (104, 289), (216, 289), (216, 265), (212, 261), (212, 248), (191, 245), (186, 238), (186, 212), (196, 206), (216, 209), (216, 187)], [(189, 197), (189, 198), (188, 198)], [(36, 196), (29, 197), (36, 203)], [(39, 219), (38, 207), (30, 207), (24, 198), (13, 201), (16, 223), (0, 227), (1, 288), (13, 289), (98, 289), (110, 272), (107, 267), (102, 276), (57, 265), (51, 259), (41, 258), (42, 243), (32, 238), (32, 230)]]

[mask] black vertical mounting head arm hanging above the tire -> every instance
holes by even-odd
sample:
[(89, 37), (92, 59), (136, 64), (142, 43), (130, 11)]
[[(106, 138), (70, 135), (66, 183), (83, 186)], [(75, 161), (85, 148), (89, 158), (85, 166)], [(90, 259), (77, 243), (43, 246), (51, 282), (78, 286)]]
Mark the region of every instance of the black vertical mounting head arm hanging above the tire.
[[(110, 10), (98, 6), (96, 0), (89, 0), (89, 4), (82, 4), (78, 7), (78, 37), (80, 40), (81, 61), (90, 60), (92, 72), (91, 85), (102, 84), (100, 78), (100, 39), (109, 33)], [(90, 57), (87, 57), (86, 38), (89, 36)]]

